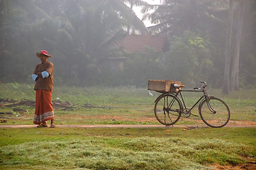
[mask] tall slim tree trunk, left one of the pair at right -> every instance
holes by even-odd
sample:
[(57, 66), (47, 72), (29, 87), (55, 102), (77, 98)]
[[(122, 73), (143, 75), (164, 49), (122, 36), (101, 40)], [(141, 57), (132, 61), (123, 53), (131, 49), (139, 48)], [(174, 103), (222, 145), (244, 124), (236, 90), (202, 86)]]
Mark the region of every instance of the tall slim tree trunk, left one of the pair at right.
[(233, 0), (229, 1), (228, 10), (228, 28), (226, 38), (226, 53), (225, 53), (225, 66), (224, 66), (224, 79), (223, 79), (223, 94), (229, 94), (229, 76), (230, 76), (230, 47), (232, 39), (232, 25), (233, 25)]

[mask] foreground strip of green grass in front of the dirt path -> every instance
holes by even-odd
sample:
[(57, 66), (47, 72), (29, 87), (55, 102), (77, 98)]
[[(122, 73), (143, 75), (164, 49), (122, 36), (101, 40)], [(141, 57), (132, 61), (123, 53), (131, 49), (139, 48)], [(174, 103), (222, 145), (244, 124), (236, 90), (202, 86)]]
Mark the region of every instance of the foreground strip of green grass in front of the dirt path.
[(210, 169), (256, 156), (255, 128), (0, 131), (0, 169)]

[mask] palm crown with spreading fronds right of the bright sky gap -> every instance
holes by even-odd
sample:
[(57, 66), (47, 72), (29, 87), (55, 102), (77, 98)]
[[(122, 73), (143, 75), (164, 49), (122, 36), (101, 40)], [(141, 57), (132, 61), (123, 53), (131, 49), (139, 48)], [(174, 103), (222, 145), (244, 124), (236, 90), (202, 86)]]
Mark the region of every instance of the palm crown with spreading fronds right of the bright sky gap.
[(145, 6), (144, 13), (152, 9), (155, 12), (146, 14), (144, 18), (156, 24), (149, 28), (151, 33), (182, 35), (184, 30), (206, 31), (206, 21), (218, 21), (218, 18), (211, 15), (215, 9), (208, 8), (213, 4), (214, 1), (210, 0), (164, 0), (161, 5)]

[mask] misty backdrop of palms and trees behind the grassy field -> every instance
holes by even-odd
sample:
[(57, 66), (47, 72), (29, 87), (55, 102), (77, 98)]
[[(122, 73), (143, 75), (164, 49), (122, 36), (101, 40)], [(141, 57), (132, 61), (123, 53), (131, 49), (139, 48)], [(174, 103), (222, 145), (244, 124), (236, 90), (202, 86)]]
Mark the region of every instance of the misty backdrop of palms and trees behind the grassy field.
[[(255, 89), (255, 9), (255, 0), (0, 0), (0, 82), (33, 83), (35, 53), (47, 50), (55, 86), (169, 79), (204, 80), (226, 94)], [(122, 46), (128, 35), (161, 35), (165, 47), (129, 51)]]

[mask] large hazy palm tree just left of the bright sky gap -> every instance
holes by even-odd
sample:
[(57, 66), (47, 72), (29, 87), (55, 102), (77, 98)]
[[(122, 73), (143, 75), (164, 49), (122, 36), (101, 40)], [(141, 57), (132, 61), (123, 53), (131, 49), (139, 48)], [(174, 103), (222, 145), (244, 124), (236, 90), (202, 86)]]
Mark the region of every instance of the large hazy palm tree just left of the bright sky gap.
[[(146, 28), (131, 8), (121, 0), (64, 1), (59, 16), (62, 28), (59, 32), (74, 47), (69, 52), (75, 55), (72, 60), (77, 77), (94, 77), (101, 74), (101, 59), (113, 57), (111, 46), (125, 35), (125, 29), (133, 26), (146, 33)], [(67, 48), (65, 48), (67, 50)], [(71, 54), (70, 54), (71, 55)], [(89, 75), (90, 74), (90, 75)]]

